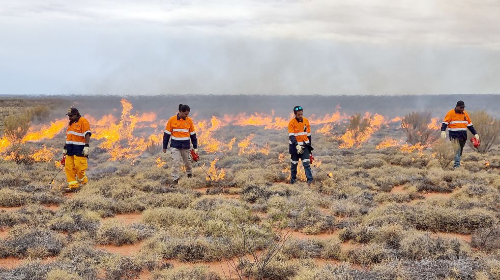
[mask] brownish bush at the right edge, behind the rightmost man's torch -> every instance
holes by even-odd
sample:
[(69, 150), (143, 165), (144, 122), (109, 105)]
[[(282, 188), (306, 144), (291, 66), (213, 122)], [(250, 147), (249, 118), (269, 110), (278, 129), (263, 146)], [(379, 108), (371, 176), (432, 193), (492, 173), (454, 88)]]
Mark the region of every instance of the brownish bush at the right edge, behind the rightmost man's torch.
[[(481, 139), (481, 146), (479, 146), (479, 152), (488, 152), (491, 147), (497, 145), (500, 142), (500, 120), (493, 118), (488, 115), (485, 111), (470, 113), (470, 119), (474, 124), (474, 128), (478, 131)], [(474, 137), (469, 130), (467, 130), (468, 138)], [(470, 141), (467, 141), (470, 147), (474, 147)]]

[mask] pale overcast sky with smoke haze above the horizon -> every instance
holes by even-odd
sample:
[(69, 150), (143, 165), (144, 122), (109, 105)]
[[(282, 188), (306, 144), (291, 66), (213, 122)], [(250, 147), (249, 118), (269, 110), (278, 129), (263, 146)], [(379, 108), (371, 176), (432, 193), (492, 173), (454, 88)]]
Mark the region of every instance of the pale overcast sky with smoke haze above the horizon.
[(0, 0), (0, 94), (500, 92), (500, 1)]

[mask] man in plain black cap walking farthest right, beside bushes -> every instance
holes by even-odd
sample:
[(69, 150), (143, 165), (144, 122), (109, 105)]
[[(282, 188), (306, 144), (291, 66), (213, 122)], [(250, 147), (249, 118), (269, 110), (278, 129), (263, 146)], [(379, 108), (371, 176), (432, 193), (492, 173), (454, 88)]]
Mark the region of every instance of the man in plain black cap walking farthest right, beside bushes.
[(460, 167), (462, 158), (463, 146), (467, 142), (467, 129), (470, 130), (474, 137), (479, 141), (479, 134), (470, 120), (469, 114), (465, 111), (465, 103), (462, 100), (457, 102), (457, 106), (446, 113), (443, 124), (441, 125), (441, 138), (446, 138), (446, 129), (450, 141), (458, 142), (457, 152), (455, 154), (455, 164), (453, 168)]

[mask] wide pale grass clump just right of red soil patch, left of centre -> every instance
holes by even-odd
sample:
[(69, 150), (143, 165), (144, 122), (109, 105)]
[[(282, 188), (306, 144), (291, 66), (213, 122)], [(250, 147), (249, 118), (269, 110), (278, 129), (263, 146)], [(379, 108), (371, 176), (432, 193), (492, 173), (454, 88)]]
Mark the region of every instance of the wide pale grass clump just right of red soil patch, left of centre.
[(170, 226), (201, 226), (203, 213), (193, 209), (176, 209), (172, 207), (161, 207), (148, 209), (142, 213), (142, 221), (155, 227)]

